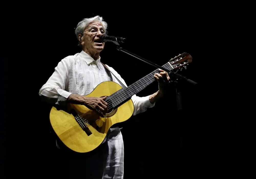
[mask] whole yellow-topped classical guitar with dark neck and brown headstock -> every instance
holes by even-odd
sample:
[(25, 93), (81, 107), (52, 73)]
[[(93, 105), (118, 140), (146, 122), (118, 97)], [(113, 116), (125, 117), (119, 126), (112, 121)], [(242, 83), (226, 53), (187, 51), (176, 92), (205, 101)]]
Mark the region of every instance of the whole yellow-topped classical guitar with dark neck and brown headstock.
[[(192, 62), (188, 53), (179, 54), (163, 65), (168, 70), (186, 69)], [(88, 97), (107, 96), (108, 113), (101, 117), (84, 105), (68, 104), (67, 108), (50, 111), (50, 123), (59, 139), (71, 150), (80, 153), (96, 149), (104, 141), (107, 132), (114, 124), (129, 119), (134, 112), (131, 97), (153, 83), (153, 75), (158, 69), (144, 76), (126, 88), (118, 83), (105, 81), (100, 83)]]

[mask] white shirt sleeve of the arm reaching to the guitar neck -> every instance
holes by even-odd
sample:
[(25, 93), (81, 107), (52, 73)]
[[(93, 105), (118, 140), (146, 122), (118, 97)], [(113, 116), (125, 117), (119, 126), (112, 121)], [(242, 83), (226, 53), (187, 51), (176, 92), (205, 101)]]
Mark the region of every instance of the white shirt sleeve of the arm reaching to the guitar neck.
[[(106, 66), (108, 66), (108, 65), (106, 65)], [(108, 66), (108, 68), (127, 87), (127, 85), (126, 85), (125, 81), (123, 80), (123, 78), (112, 67)], [(113, 75), (112, 75), (112, 79), (115, 79), (115, 77)], [(117, 80), (114, 80), (114, 81), (116, 83), (120, 84)], [(134, 104), (134, 112), (133, 112), (134, 116), (139, 114), (139, 113), (145, 112), (148, 108), (152, 108), (152, 107), (155, 106), (155, 103), (153, 103), (153, 104), (150, 103), (149, 97), (150, 97), (150, 95), (139, 97), (136, 94), (131, 97), (131, 99), (133, 101), (133, 104)]]

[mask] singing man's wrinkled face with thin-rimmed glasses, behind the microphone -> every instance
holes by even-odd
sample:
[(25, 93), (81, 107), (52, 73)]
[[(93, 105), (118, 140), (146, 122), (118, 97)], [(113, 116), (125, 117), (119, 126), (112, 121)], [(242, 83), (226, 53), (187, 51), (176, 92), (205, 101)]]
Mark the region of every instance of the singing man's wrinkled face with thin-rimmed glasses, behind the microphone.
[[(90, 30), (91, 29), (91, 30)], [(85, 48), (91, 52), (101, 52), (104, 49), (105, 43), (101, 41), (100, 36), (103, 34), (104, 27), (101, 23), (91, 22), (85, 29), (82, 40)], [(98, 31), (97, 31), (98, 30)]]

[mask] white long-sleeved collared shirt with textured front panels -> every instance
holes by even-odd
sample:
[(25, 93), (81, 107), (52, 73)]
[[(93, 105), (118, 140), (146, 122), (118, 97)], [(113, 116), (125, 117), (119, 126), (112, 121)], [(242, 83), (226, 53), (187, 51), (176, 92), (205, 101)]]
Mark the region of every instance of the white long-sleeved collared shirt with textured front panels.
[[(110, 66), (109, 70), (127, 87), (121, 76)], [(42, 100), (50, 103), (61, 104), (65, 102), (71, 93), (87, 95), (104, 81), (112, 81), (120, 84), (111, 73), (107, 73), (104, 66), (98, 60), (94, 60), (86, 52), (81, 51), (75, 55), (63, 58), (55, 67), (54, 73), (39, 90)], [(121, 85), (121, 84), (120, 84)], [(122, 85), (121, 85), (122, 86)], [(142, 113), (155, 105), (149, 101), (149, 96), (131, 97), (134, 104), (133, 115)]]

